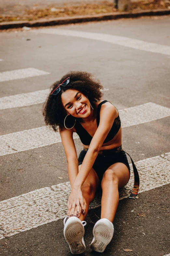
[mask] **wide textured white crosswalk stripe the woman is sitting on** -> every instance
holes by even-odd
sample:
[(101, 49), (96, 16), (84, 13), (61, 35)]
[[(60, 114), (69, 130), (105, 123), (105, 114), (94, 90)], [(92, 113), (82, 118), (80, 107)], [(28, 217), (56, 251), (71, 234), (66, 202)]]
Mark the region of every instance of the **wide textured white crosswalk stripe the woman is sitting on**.
[[(133, 170), (132, 164), (130, 167)], [(170, 152), (138, 161), (136, 167), (140, 176), (139, 193), (170, 183)], [(133, 184), (131, 171), (129, 183), (120, 190), (120, 199), (130, 195)], [(70, 191), (70, 183), (66, 182), (0, 202), (0, 239), (64, 218)], [(90, 209), (100, 206), (100, 202), (101, 198), (96, 196)]]

